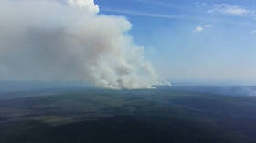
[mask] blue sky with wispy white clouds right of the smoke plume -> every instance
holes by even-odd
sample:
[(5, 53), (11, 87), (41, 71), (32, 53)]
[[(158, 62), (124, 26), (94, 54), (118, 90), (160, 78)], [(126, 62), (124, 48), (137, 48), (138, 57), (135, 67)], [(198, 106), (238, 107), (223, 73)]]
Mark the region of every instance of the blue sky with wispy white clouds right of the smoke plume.
[(256, 81), (253, 0), (96, 0), (123, 15), (145, 56), (170, 80)]

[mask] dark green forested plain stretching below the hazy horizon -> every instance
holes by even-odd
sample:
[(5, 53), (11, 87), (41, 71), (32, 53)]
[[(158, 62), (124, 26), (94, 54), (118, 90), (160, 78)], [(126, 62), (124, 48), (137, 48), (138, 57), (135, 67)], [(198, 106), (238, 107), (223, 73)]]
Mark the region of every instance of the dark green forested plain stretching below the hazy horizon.
[(256, 142), (256, 97), (48, 89), (0, 94), (0, 143)]

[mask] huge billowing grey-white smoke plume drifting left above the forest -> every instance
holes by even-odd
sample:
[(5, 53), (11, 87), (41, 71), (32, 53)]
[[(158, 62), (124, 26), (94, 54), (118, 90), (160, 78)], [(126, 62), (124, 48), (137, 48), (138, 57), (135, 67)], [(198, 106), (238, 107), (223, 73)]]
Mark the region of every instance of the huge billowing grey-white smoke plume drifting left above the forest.
[(93, 0), (1, 1), (0, 80), (85, 80), (113, 89), (160, 84), (123, 17)]

